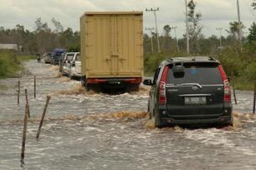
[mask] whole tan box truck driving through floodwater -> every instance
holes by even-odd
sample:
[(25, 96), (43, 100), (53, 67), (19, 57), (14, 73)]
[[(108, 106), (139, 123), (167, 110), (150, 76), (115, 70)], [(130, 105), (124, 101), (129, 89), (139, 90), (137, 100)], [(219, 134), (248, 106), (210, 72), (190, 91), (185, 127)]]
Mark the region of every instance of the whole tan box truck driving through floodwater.
[(138, 90), (143, 77), (143, 12), (86, 12), (80, 18), (82, 84)]

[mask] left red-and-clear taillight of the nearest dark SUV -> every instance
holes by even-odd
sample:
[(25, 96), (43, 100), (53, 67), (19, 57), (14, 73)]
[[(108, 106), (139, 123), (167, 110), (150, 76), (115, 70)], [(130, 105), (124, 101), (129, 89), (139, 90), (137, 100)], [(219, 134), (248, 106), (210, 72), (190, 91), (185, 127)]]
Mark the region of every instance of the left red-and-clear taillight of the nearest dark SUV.
[(165, 84), (167, 80), (168, 75), (168, 66), (165, 66), (162, 72), (162, 77), (159, 82), (159, 104), (166, 104), (166, 91), (165, 91)]

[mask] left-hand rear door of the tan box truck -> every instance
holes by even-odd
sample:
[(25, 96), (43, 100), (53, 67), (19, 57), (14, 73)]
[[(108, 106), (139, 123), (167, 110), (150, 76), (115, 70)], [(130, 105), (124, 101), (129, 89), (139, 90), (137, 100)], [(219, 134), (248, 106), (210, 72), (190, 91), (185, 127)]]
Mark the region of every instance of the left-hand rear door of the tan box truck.
[(85, 56), (90, 77), (111, 75), (113, 46), (111, 15), (88, 15), (86, 19)]

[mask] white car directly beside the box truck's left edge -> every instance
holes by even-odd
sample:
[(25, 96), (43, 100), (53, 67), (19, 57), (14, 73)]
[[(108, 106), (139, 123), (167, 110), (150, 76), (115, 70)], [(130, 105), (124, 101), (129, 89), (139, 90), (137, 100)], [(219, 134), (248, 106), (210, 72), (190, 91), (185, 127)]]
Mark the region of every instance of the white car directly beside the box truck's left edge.
[(81, 56), (76, 52), (70, 65), (69, 77), (71, 79), (81, 79)]

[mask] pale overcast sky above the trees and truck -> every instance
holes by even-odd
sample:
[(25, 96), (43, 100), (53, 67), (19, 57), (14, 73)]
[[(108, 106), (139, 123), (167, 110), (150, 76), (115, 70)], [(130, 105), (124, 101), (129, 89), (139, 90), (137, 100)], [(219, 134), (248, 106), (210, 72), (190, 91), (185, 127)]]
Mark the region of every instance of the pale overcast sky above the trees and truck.
[[(230, 21), (238, 20), (236, 0), (194, 1), (196, 11), (202, 14), (202, 32), (205, 36), (218, 35), (216, 27), (228, 29)], [(252, 1), (240, 0), (245, 32), (256, 21), (256, 11), (250, 6)], [(0, 0), (0, 27), (14, 28), (16, 24), (22, 24), (33, 30), (35, 19), (41, 17), (53, 28), (51, 18), (54, 17), (65, 29), (71, 27), (79, 30), (79, 18), (85, 11), (144, 11), (144, 27), (154, 27), (154, 15), (145, 12), (147, 7), (160, 8), (157, 12), (160, 34), (166, 24), (177, 26), (179, 37), (185, 33), (184, 0)], [(227, 35), (225, 31), (224, 35)]]

